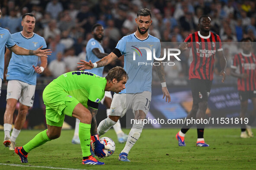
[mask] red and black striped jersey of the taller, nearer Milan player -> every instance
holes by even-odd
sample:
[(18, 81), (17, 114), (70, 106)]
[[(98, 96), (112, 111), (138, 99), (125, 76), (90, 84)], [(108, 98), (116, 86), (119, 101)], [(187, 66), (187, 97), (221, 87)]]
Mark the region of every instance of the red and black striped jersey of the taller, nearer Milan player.
[(197, 31), (188, 35), (184, 42), (190, 42), (188, 47), (191, 47), (193, 54), (189, 79), (212, 80), (216, 50), (223, 50), (219, 35), (210, 31), (208, 36), (203, 36)]

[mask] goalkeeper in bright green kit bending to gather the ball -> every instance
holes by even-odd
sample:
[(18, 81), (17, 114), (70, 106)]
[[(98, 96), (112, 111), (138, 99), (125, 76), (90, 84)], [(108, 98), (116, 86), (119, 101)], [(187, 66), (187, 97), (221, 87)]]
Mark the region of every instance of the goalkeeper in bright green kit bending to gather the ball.
[[(16, 147), (22, 163), (27, 163), (27, 155), (32, 149), (43, 145), (61, 134), (65, 115), (78, 118), (79, 139), (83, 153), (82, 164), (104, 165), (91, 156), (90, 145), (98, 157), (106, 156), (107, 147), (97, 135), (96, 114), (98, 104), (105, 91), (119, 93), (125, 89), (128, 76), (122, 67), (110, 69), (102, 78), (91, 72), (73, 71), (62, 74), (45, 87), (42, 97), (46, 106), (45, 117), (48, 129), (37, 134), (23, 147)], [(108, 149), (108, 148), (106, 148)]]

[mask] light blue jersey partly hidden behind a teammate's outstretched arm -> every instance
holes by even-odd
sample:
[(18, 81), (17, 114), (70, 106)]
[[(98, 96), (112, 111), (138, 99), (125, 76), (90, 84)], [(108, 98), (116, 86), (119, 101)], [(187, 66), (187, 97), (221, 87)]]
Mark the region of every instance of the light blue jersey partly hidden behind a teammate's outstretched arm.
[[(19, 47), (23, 47), (28, 50), (36, 50), (41, 46), (43, 46), (42, 49), (47, 47), (45, 39), (35, 33), (31, 38), (24, 37), (21, 32), (12, 34), (12, 37), (13, 41), (16, 42)], [(36, 72), (33, 65), (37, 66), (37, 62), (38, 57), (35, 55), (21, 56), (12, 53), (6, 79), (19, 80), (30, 85), (36, 85)]]

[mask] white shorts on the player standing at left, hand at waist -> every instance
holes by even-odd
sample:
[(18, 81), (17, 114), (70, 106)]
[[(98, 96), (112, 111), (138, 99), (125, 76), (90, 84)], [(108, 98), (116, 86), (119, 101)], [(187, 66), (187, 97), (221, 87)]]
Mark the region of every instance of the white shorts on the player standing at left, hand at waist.
[(34, 103), (34, 94), (36, 85), (29, 85), (28, 83), (19, 80), (10, 80), (7, 84), (6, 100), (14, 98), (25, 106), (32, 107)]

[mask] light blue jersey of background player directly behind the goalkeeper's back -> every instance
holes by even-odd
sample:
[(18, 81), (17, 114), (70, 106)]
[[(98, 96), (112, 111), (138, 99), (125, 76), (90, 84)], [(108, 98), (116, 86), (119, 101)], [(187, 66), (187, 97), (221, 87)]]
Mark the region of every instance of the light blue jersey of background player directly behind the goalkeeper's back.
[[(100, 50), (101, 53), (104, 53), (104, 49), (101, 46), (100, 42), (95, 40), (94, 38), (91, 38), (86, 45), (86, 60), (89, 61), (91, 60), (92, 63), (97, 62), (98, 60), (100, 60), (93, 52), (92, 50), (94, 48), (98, 48)], [(104, 67), (99, 67), (99, 68), (95, 68), (95, 69), (90, 69), (90, 70), (85, 70), (88, 72), (92, 72), (100, 77), (103, 76), (103, 69)]]

